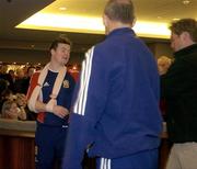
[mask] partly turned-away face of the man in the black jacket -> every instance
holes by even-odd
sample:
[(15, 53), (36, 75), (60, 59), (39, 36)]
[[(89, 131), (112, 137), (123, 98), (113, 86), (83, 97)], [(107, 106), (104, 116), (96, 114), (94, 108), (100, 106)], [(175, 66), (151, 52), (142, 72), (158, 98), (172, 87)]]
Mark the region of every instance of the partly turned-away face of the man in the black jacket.
[(182, 49), (183, 46), (183, 35), (177, 35), (175, 33), (171, 34), (171, 47), (173, 48), (174, 52), (177, 52)]

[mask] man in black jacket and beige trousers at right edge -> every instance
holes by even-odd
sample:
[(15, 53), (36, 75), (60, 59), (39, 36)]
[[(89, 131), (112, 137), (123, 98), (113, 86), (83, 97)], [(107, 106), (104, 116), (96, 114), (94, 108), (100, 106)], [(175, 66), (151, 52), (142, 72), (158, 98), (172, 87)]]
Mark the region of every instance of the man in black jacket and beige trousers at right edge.
[(174, 61), (162, 76), (169, 139), (173, 143), (166, 169), (197, 168), (197, 21), (173, 22)]

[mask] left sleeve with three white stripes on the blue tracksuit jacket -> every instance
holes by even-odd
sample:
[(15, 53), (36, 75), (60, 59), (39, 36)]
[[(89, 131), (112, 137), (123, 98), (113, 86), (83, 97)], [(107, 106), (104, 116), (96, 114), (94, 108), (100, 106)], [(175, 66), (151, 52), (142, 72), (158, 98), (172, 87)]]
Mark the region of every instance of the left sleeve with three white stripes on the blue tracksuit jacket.
[(107, 98), (107, 66), (102, 63), (102, 55), (91, 48), (85, 56), (69, 119), (63, 169), (81, 168), (84, 151), (94, 142), (96, 122)]

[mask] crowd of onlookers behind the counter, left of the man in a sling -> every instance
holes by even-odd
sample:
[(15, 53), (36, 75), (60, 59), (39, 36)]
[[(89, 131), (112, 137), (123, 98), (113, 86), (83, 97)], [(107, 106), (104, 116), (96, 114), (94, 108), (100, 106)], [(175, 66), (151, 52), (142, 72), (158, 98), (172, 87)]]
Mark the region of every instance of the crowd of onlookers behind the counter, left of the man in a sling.
[(0, 110), (2, 119), (35, 121), (36, 114), (27, 108), (26, 93), (35, 67), (8, 70), (7, 65), (0, 67)]

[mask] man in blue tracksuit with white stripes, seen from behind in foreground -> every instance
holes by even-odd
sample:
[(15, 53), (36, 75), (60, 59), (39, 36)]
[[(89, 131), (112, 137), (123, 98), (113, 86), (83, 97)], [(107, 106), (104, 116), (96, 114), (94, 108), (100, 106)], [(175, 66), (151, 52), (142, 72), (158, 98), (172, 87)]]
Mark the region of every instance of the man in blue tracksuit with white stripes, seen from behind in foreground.
[(155, 60), (130, 29), (130, 0), (109, 0), (107, 37), (82, 63), (63, 169), (81, 168), (86, 150), (101, 169), (157, 169), (162, 119)]

